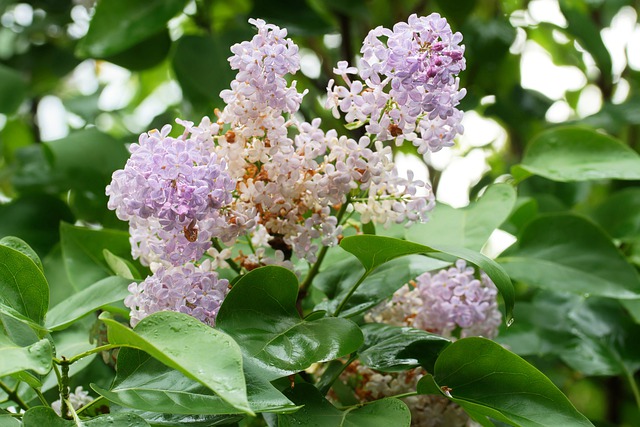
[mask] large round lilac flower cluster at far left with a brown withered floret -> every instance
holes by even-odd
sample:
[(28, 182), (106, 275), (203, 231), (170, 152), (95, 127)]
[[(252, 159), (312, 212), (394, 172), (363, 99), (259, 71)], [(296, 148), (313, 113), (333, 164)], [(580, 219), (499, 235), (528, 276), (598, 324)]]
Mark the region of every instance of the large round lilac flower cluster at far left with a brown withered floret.
[[(215, 153), (195, 139), (172, 138), (171, 126), (143, 133), (124, 169), (106, 188), (108, 207), (129, 221), (134, 254), (147, 265), (198, 260), (226, 222), (221, 209), (235, 182)], [(222, 227), (224, 228), (224, 227)]]

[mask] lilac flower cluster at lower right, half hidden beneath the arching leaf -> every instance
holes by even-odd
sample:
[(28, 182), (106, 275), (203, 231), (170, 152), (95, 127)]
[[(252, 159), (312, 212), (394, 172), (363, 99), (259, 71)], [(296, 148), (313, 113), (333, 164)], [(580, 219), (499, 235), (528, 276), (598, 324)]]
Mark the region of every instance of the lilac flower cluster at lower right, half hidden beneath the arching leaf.
[(464, 260), (435, 274), (423, 273), (415, 287), (403, 286), (391, 301), (376, 307), (368, 320), (412, 326), (438, 335), (494, 338), (500, 326), (498, 290), (489, 276), (474, 277)]

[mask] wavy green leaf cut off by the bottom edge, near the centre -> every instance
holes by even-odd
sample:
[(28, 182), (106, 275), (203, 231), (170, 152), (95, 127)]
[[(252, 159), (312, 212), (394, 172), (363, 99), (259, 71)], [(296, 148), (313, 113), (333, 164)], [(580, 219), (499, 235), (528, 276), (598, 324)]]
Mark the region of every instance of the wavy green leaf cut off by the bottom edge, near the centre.
[(278, 415), (279, 427), (409, 427), (411, 413), (401, 400), (386, 398), (340, 411), (311, 384), (297, 383), (286, 395), (304, 405), (293, 414)]

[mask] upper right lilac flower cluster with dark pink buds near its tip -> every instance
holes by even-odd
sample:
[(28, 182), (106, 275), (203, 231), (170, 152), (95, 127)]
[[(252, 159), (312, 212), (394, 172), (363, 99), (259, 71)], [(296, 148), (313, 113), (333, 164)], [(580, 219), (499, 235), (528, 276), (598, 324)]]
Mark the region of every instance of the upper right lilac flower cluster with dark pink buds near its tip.
[(366, 123), (378, 140), (410, 141), (420, 154), (450, 146), (463, 132), (456, 108), (466, 94), (457, 77), (465, 69), (461, 41), (437, 13), (411, 15), (393, 30), (378, 27), (363, 43), (359, 69), (346, 62), (334, 69), (347, 86), (331, 80), (327, 106), (336, 117), (345, 113), (347, 122)]

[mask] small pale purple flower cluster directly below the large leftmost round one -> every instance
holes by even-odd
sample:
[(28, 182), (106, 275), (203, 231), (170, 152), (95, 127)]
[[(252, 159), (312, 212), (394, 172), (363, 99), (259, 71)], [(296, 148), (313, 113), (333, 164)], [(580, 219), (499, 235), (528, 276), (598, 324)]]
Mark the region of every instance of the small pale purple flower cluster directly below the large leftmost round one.
[(215, 326), (220, 304), (229, 291), (229, 281), (218, 278), (208, 263), (159, 267), (141, 283), (129, 285), (131, 295), (124, 304), (131, 309), (131, 325), (158, 311), (177, 311)]

